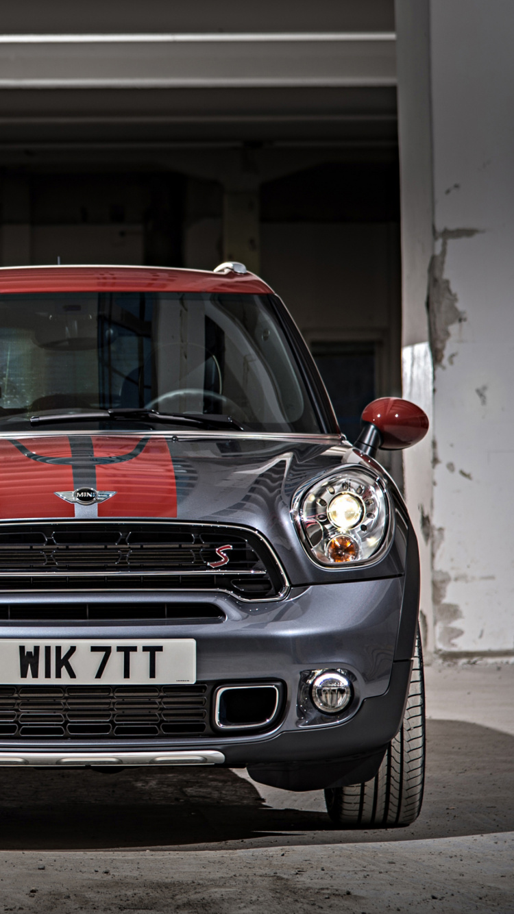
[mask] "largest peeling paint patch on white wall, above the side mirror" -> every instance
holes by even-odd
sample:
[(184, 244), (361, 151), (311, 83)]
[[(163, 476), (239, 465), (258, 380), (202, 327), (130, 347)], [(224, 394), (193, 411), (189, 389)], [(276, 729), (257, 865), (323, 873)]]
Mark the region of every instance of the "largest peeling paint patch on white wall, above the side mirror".
[(444, 228), (441, 232), (435, 232), (435, 240), (441, 241), (441, 250), (430, 260), (427, 295), (430, 345), (434, 356), (434, 366), (441, 366), (443, 363), (444, 349), (450, 338), (450, 327), (453, 324), (462, 324), (467, 319), (466, 313), (457, 308), (456, 293), (452, 290), (450, 281), (444, 277), (448, 241), (472, 238), (480, 230), (479, 228)]

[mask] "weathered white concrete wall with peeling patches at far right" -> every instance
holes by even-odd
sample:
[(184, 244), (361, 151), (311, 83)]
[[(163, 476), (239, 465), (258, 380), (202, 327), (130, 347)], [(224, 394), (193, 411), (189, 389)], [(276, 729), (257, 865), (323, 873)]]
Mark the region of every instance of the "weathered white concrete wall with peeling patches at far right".
[(425, 528), (432, 542), (435, 648), (451, 656), (514, 654), (514, 5), (400, 0), (399, 44), (409, 28), (414, 40), (420, 37), (419, 19), (409, 22), (413, 6), (428, 13), (425, 43), (410, 60), (413, 82), (405, 81), (409, 67), (399, 73), (399, 95), (411, 96), (414, 105), (412, 85), (419, 89), (424, 79), (419, 101), (425, 104), (429, 73), (432, 162), (415, 114), (403, 124), (401, 114), (400, 146), (411, 165), (419, 156), (419, 180), (430, 185), (432, 175), (434, 250), (426, 241), (427, 186), (424, 194), (412, 192), (404, 159), (402, 187), (411, 190), (404, 213), (417, 248), (403, 247), (403, 309), (413, 315), (405, 343), (423, 343), (422, 289), (412, 292), (409, 285), (417, 263), (418, 284), (426, 270), (434, 360), (434, 495)]

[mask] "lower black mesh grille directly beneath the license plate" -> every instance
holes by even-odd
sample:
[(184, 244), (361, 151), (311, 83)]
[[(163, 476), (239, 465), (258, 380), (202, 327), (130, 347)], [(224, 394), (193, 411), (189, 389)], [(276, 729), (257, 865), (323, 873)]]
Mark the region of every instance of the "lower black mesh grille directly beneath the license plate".
[(1, 685), (0, 739), (148, 739), (209, 733), (209, 687)]

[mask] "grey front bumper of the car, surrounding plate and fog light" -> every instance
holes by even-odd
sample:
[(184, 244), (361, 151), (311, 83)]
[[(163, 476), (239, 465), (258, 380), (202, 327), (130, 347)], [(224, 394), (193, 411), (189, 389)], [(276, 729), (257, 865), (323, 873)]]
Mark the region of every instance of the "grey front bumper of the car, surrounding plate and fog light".
[[(222, 685), (279, 680), (284, 684), (285, 697), (281, 717), (271, 732), (211, 732), (195, 739), (123, 741), (2, 739), (0, 763), (3, 759), (6, 763), (6, 753), (13, 753), (16, 758), (30, 755), (36, 764), (32, 753), (50, 753), (60, 760), (75, 754), (84, 759), (84, 764), (94, 763), (96, 756), (97, 763), (102, 764), (102, 758), (118, 760), (123, 753), (132, 758), (136, 753), (139, 763), (148, 764), (155, 763), (149, 757), (164, 759), (166, 753), (185, 752), (193, 760), (180, 763), (199, 764), (202, 762), (195, 758), (202, 752), (215, 752), (220, 756), (213, 757), (214, 763), (253, 767), (340, 760), (380, 749), (400, 727), (410, 675), (408, 659), (395, 661), (401, 619), (412, 614), (402, 608), (403, 584), (403, 578), (389, 578), (316, 585), (295, 588), (285, 600), (256, 604), (225, 594), (202, 594), (202, 600), (219, 605), (224, 615), (224, 621), (219, 623), (3, 624), (0, 638), (16, 640), (87, 637), (119, 641), (150, 634), (159, 639), (194, 638), (198, 681)], [(198, 604), (195, 594), (170, 593), (160, 597)], [(70, 595), (63, 598), (59, 594), (59, 600), (63, 599), (70, 600)], [(73, 599), (80, 598), (74, 595)], [(91, 594), (87, 599), (91, 601)], [(99, 599), (104, 600), (104, 595)], [(119, 601), (120, 597), (112, 595), (112, 599)], [(125, 594), (124, 599), (130, 598)], [(141, 597), (134, 594), (133, 600), (137, 599)], [(45, 601), (48, 602), (48, 595)], [(355, 677), (354, 704), (344, 721), (334, 722), (327, 717), (326, 724), (305, 726), (297, 707), (300, 675), (305, 670), (334, 667), (344, 667)]]

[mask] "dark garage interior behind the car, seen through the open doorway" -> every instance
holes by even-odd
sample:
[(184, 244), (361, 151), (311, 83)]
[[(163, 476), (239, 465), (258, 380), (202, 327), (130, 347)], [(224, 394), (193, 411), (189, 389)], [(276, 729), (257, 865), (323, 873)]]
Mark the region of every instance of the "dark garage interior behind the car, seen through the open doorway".
[[(57, 15), (52, 5), (54, 21), (46, 13), (44, 28), (35, 3), (24, 5), (24, 15), (12, 8), (5, 16), (5, 32), (35, 59), (45, 48), (25, 45), (27, 31), (60, 36), (60, 43), (51, 48), (52, 79), (40, 78), (45, 69), (37, 59), (37, 80), (0, 79), (2, 265), (211, 270), (241, 260), (284, 299), (341, 427), (356, 437), (370, 399), (401, 394), (396, 89), (393, 79), (374, 73), (375, 46), (346, 79), (328, 71), (320, 78), (331, 42), (309, 36), (326, 29), (359, 43), (362, 33), (386, 35), (394, 28), (392, 2), (324, 0), (316, 14), (295, 5), (293, 19), (289, 3), (225, 3), (215, 15), (206, 2), (192, 11), (153, 2), (144, 16), (126, 4), (123, 31), (134, 35), (209, 38), (223, 30), (232, 40), (221, 43), (220, 54), (241, 47), (244, 55), (255, 36), (272, 52), (278, 46), (265, 78), (212, 78), (207, 60), (205, 84), (192, 84), (184, 60), (173, 79), (151, 87), (143, 79), (135, 88), (134, 80), (129, 87), (116, 78), (115, 66), (96, 82), (91, 73), (78, 80), (70, 66), (66, 37), (87, 34), (92, 14), (95, 32), (119, 30), (112, 9), (92, 6), (86, 17), (69, 7)], [(292, 70), (287, 41), (268, 40), (290, 32), (292, 21), (290, 44), (305, 37), (300, 73)], [(204, 44), (216, 55), (216, 41)], [(401, 482), (401, 461), (391, 469)]]

